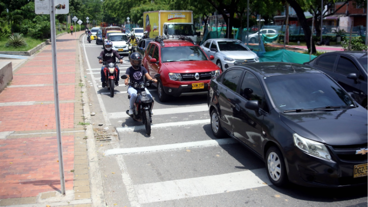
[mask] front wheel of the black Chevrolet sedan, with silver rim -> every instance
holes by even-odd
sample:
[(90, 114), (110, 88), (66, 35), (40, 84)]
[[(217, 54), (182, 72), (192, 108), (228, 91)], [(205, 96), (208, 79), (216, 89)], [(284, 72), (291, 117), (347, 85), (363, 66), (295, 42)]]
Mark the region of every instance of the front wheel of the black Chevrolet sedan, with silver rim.
[(284, 157), (281, 151), (275, 146), (271, 146), (267, 150), (266, 170), (269, 180), (275, 186), (283, 187), (288, 184)]

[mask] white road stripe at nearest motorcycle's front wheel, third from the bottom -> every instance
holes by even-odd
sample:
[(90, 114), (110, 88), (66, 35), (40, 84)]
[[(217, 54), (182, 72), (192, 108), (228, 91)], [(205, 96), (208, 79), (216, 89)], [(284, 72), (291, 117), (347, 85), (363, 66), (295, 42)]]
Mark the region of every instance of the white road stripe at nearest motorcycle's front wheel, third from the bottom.
[[(210, 123), (210, 119), (170, 122), (170, 123), (162, 123), (162, 124), (151, 124), (151, 129), (165, 128), (165, 127), (189, 126), (189, 125), (200, 125), (200, 124), (209, 124), (209, 123)], [(145, 126), (144, 125), (139, 125), (139, 126), (134, 126), (134, 127), (118, 127), (118, 128), (116, 128), (116, 131), (118, 131), (118, 132), (128, 132), (128, 131), (138, 131), (138, 130), (145, 130)]]

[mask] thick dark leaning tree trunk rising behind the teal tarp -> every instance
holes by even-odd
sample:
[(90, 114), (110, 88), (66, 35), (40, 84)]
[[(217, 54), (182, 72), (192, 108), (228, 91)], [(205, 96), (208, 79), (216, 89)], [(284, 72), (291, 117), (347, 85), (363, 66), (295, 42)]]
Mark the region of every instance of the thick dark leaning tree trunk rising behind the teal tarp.
[(312, 32), (310, 31), (310, 28), (307, 24), (307, 20), (305, 18), (304, 15), (304, 11), (301, 8), (301, 6), (299, 5), (299, 3), (295, 0), (287, 0), (290, 4), (291, 7), (293, 7), (293, 9), (295, 10), (295, 12), (297, 13), (299, 22), (301, 24), (301, 28), (303, 28), (304, 31), (304, 39), (307, 45), (308, 49), (312, 49), (313, 53), (316, 53), (316, 47), (314, 45), (314, 42), (312, 41), (312, 45), (310, 45), (310, 36), (312, 35)]

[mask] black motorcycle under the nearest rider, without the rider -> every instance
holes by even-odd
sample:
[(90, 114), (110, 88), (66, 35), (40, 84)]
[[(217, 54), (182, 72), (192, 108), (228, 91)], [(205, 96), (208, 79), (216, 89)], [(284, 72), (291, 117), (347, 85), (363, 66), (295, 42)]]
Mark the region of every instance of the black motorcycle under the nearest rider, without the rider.
[[(160, 77), (160, 74), (156, 74), (155, 78)], [(127, 79), (127, 75), (122, 75), (121, 79)], [(135, 90), (137, 90), (137, 99), (134, 103), (133, 115), (129, 115), (129, 110), (127, 110), (127, 114), (133, 118), (134, 121), (141, 121), (146, 128), (147, 135), (151, 134), (151, 123), (152, 123), (152, 108), (153, 108), (153, 99), (147, 95), (145, 88), (152, 83), (152, 80), (147, 82), (131, 82), (128, 85), (132, 86)], [(128, 99), (131, 97), (128, 95)]]

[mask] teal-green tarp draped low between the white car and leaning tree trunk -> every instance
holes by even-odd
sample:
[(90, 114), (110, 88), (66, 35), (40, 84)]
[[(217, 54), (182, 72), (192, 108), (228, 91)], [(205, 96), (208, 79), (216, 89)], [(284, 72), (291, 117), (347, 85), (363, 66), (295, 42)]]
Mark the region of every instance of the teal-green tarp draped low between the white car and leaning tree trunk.
[[(292, 52), (289, 50), (275, 50), (264, 53), (260, 57), (260, 62), (286, 62), (286, 63), (299, 63), (303, 64), (309, 62), (309, 55), (298, 52)], [(317, 56), (312, 55), (311, 60)]]

